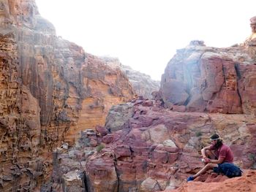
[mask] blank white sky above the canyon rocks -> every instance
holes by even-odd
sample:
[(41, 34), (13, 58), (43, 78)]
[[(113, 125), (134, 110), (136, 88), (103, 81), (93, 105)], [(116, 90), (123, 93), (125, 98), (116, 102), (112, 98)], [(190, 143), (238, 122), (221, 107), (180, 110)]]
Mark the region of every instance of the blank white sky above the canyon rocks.
[(255, 0), (36, 0), (57, 35), (160, 80), (194, 39), (229, 47), (251, 34)]

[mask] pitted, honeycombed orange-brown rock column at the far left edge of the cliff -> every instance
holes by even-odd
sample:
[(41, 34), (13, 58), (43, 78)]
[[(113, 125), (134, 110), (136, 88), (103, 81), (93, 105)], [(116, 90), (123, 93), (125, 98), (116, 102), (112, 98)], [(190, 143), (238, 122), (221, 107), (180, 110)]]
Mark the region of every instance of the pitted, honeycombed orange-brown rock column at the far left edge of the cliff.
[(15, 34), (0, 35), (0, 188), (18, 191), (42, 181), (39, 102), (20, 82)]

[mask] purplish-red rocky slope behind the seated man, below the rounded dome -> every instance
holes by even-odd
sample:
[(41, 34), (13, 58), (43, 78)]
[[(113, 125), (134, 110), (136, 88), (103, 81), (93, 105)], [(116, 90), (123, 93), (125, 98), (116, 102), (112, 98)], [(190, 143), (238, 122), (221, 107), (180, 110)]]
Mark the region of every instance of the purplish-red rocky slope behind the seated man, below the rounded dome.
[[(76, 147), (59, 150), (55, 172), (62, 175), (81, 170), (88, 191), (175, 189), (203, 167), (200, 149), (208, 145), (208, 137), (215, 132), (230, 145), (238, 166), (254, 166), (255, 160), (250, 158), (256, 153), (253, 115), (173, 112), (160, 104), (135, 99), (126, 107), (113, 108), (121, 113), (132, 106), (132, 117), (125, 123), (121, 120), (119, 130), (102, 136), (85, 131)], [(118, 116), (111, 117), (119, 120)], [(206, 180), (204, 177), (200, 180)], [(56, 186), (61, 185), (58, 178), (54, 180)], [(222, 180), (218, 178), (214, 180)], [(229, 180), (224, 179), (226, 183)]]

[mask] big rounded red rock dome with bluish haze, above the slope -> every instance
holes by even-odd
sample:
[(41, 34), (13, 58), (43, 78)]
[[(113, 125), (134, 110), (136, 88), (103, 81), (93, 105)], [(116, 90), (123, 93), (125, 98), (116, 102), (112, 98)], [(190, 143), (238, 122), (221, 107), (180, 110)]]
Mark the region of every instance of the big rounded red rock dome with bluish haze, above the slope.
[(191, 112), (255, 113), (255, 70), (245, 47), (192, 42), (167, 64), (160, 97), (173, 110), (184, 106)]

